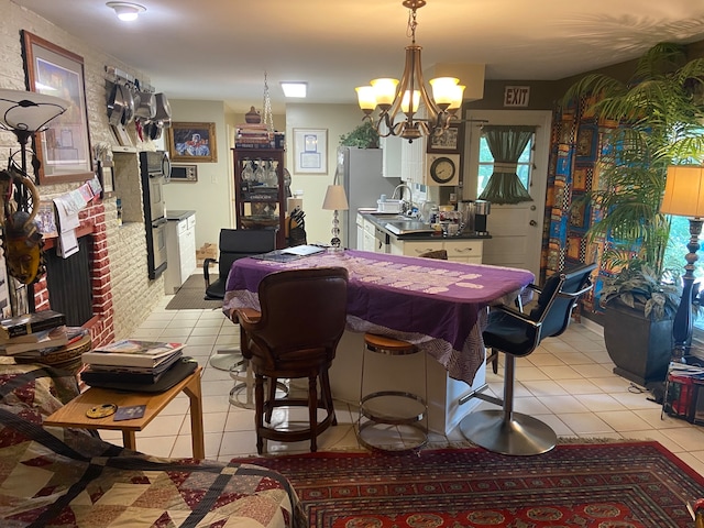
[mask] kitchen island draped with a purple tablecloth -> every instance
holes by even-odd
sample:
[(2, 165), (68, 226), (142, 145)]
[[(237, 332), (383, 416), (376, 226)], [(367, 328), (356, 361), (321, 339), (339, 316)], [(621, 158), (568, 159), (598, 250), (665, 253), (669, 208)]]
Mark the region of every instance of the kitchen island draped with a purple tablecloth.
[(223, 311), (258, 309), (258, 283), (270, 273), (321, 266), (343, 266), (350, 273), (348, 331), (330, 371), (333, 397), (359, 403), (364, 332), (410, 341), (425, 353), (403, 364), (395, 359), (380, 363), (365, 383), (394, 380), (395, 388), (413, 391), (422, 383), (419, 374), (427, 369), (429, 428), (442, 435), (475, 405), (460, 407), (459, 399), (484, 385), (482, 328), (487, 307), (510, 301), (534, 279), (524, 270), (354, 250), (287, 263), (241, 258), (232, 265)]

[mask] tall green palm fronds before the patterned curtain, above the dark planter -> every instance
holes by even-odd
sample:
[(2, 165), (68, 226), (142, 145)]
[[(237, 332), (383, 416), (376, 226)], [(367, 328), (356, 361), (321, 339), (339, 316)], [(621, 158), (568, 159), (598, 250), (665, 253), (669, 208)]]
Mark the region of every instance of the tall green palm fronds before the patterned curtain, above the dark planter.
[(663, 273), (670, 221), (660, 213), (669, 165), (704, 162), (704, 59), (686, 61), (685, 47), (652, 46), (627, 81), (590, 74), (572, 85), (563, 106), (587, 105), (582, 112), (619, 123), (603, 129), (600, 187), (588, 200), (601, 215), (587, 240), (610, 237), (603, 260), (629, 266), (634, 254), (658, 276)]

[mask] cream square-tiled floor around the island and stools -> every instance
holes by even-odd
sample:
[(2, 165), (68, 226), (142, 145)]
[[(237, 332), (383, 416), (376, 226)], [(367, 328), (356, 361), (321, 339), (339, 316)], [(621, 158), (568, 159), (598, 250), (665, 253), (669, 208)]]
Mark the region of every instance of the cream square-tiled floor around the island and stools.
[[(144, 321), (134, 338), (176, 340), (188, 343), (187, 353), (204, 366), (204, 425), (206, 455), (229, 461), (256, 454), (253, 413), (231, 406), (233, 382), (227, 371), (209, 364), (218, 349), (235, 345), (239, 329), (220, 310), (165, 310), (166, 296)], [(598, 327), (596, 327), (598, 328)], [(559, 338), (543, 341), (540, 349), (517, 362), (515, 409), (549, 424), (561, 438), (652, 439), (662, 443), (690, 466), (704, 474), (704, 427), (664, 417), (660, 406), (648, 400), (630, 382), (612, 373), (613, 364), (603, 338), (588, 321), (573, 323)], [(502, 370), (487, 371), (490, 389), (502, 394)], [(495, 408), (482, 403), (481, 407)], [(353, 424), (356, 410), (337, 404), (338, 422), (319, 438), (319, 450), (360, 449)], [(144, 430), (136, 433), (138, 449), (154, 455), (190, 457), (188, 398), (179, 395)], [(114, 431), (100, 431), (103, 439), (121, 444)], [(448, 437), (431, 435), (433, 446), (458, 444), (458, 430)], [(307, 442), (268, 442), (270, 453), (306, 452)]]

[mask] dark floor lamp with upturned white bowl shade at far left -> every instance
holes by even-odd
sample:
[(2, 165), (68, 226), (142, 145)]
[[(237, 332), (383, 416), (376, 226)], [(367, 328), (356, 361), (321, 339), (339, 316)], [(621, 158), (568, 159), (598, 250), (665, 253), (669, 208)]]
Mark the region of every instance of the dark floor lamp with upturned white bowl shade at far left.
[[(0, 129), (14, 133), (18, 142), (20, 143), (20, 168), (22, 176), (26, 176), (29, 178), (26, 173), (26, 155), (30, 138), (32, 138), (36, 132), (46, 130), (50, 121), (64, 113), (68, 108), (68, 105), (69, 103), (67, 101), (59, 99), (58, 97), (36, 94), (34, 91), (0, 90)], [(37, 170), (38, 164), (35, 165), (34, 173)], [(26, 185), (14, 180), (11, 185), (14, 187), (12, 196), (14, 197), (15, 207), (19, 211), (30, 211), (31, 208), (36, 208), (38, 206), (38, 204), (31, 202), (30, 189), (28, 189)], [(6, 210), (0, 213), (7, 216), (9, 215), (9, 211)], [(7, 237), (8, 233), (6, 232), (4, 234)], [(8, 258), (12, 257), (12, 255), (6, 256)], [(30, 279), (26, 282), (33, 283), (33, 280)], [(14, 288), (11, 289), (13, 290), (10, 296), (13, 304), (12, 311), (14, 315), (20, 315), (20, 302), (18, 300), (16, 290)], [(34, 311), (34, 288), (32, 287), (32, 284), (26, 284), (26, 306), (29, 311)]]

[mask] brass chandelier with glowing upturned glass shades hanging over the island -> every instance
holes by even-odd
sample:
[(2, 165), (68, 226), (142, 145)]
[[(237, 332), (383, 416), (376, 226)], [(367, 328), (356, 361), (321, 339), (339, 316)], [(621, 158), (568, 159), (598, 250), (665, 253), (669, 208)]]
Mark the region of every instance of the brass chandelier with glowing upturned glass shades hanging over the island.
[[(442, 135), (462, 106), (464, 86), (454, 77), (438, 77), (430, 80), (432, 98), (426, 90), (420, 66), (421, 46), (416, 45), (416, 11), (426, 4), (426, 0), (404, 0), (404, 7), (410, 9), (408, 33), (411, 44), (406, 46), (406, 65), (400, 82), (397, 79), (380, 78), (371, 86), (355, 88), (364, 119), (374, 123), (381, 136), (397, 135), (413, 142), (424, 135)], [(426, 107), (424, 118), (416, 117), (420, 102)], [(378, 107), (376, 122), (372, 112)], [(403, 112), (405, 119), (396, 122)]]

